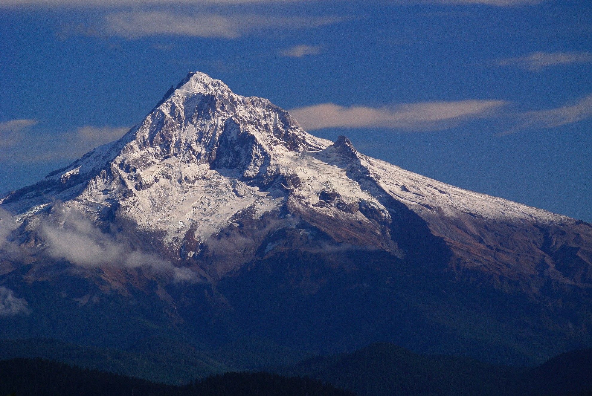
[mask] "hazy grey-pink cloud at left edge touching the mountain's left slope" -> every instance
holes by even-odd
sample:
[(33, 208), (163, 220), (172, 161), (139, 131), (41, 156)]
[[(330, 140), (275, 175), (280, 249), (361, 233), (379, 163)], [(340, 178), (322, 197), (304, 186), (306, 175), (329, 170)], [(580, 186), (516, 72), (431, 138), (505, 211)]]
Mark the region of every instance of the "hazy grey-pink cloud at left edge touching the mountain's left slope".
[[(50, 133), (27, 128), (34, 124), (37, 121), (11, 120), (0, 123), (0, 160), (41, 162), (75, 159), (101, 144), (119, 139), (130, 130), (130, 127), (85, 125), (73, 131)], [(26, 150), (23, 149), (25, 145)]]

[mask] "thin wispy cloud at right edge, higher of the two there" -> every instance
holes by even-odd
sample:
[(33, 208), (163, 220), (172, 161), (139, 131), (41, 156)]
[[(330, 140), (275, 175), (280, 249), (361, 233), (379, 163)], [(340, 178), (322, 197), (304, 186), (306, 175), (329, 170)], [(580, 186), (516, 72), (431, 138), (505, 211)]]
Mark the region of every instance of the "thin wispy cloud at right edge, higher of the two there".
[(516, 66), (537, 72), (544, 67), (557, 65), (574, 65), (575, 63), (592, 63), (592, 52), (533, 52), (526, 56), (500, 59), (500, 66)]

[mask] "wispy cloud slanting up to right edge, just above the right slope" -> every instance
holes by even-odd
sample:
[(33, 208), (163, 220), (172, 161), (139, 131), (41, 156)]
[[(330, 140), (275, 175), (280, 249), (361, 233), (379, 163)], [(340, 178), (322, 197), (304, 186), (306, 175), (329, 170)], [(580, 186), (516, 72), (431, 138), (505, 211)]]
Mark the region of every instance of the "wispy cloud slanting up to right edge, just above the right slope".
[(517, 116), (519, 123), (499, 135), (515, 133), (527, 128), (555, 128), (577, 123), (592, 117), (592, 94), (588, 94), (574, 104), (563, 105), (549, 110), (527, 111)]

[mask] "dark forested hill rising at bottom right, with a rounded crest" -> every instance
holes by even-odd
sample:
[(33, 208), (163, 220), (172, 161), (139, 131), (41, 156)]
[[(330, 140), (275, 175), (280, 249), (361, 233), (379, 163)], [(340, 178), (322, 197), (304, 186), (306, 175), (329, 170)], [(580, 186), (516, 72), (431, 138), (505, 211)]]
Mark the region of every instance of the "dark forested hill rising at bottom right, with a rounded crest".
[(311, 376), (361, 396), (542, 396), (592, 388), (592, 349), (562, 353), (535, 368), (518, 368), (419, 355), (375, 343), (351, 354), (318, 356), (269, 371)]

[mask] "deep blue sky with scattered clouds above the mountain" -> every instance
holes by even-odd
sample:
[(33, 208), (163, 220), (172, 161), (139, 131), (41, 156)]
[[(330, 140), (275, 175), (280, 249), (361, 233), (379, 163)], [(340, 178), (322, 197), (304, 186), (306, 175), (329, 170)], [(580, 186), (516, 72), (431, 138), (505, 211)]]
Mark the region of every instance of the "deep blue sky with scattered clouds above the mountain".
[(0, 191), (200, 70), (317, 136), (592, 221), (589, 1), (0, 0), (0, 34)]

